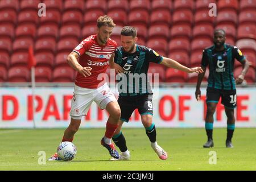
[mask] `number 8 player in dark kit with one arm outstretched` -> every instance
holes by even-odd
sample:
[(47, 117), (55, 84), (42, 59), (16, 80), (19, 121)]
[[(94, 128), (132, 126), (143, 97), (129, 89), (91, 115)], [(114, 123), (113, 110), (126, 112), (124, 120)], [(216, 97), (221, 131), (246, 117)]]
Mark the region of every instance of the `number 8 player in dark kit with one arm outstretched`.
[[(138, 109), (152, 149), (160, 159), (166, 160), (167, 152), (156, 142), (156, 129), (154, 122), (152, 122), (152, 90), (151, 86), (148, 86), (147, 78), (149, 63), (163, 64), (166, 67), (179, 69), (187, 73), (202, 73), (203, 70), (201, 67), (192, 69), (184, 67), (175, 60), (158, 55), (158, 53), (150, 48), (135, 44), (137, 40), (137, 31), (134, 27), (123, 27), (121, 31), (122, 46), (118, 47), (115, 51), (114, 62), (110, 61), (110, 67), (115, 68), (118, 73), (122, 73), (120, 74), (122, 75), (122, 79), (118, 81), (118, 84), (123, 78), (127, 80), (127, 84), (122, 85), (122, 89), (118, 90), (118, 104), (121, 108), (121, 118), (112, 139), (122, 152), (119, 159), (129, 160), (130, 152), (127, 149), (121, 127), (124, 121), (129, 122), (133, 111)], [(139, 77), (136, 78), (136, 74)], [(136, 81), (137, 83), (134, 83)]]

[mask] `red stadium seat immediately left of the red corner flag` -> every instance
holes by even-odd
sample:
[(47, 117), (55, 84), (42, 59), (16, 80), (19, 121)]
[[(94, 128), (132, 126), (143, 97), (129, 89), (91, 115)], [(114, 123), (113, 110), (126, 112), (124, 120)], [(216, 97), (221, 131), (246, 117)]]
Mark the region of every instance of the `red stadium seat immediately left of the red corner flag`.
[(28, 51), (14, 52), (11, 55), (11, 67), (13, 66), (26, 66), (28, 60)]

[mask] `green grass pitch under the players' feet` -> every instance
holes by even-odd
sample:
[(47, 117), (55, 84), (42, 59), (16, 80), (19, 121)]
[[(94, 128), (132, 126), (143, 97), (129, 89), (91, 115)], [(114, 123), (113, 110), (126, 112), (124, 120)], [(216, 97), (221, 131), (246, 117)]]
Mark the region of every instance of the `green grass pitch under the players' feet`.
[[(129, 161), (109, 160), (100, 144), (105, 129), (80, 129), (73, 140), (75, 159), (39, 164), (38, 152), (45, 151), (46, 159), (56, 152), (64, 129), (1, 129), (0, 170), (256, 170), (256, 129), (237, 128), (234, 148), (225, 147), (226, 129), (214, 129), (213, 148), (203, 148), (204, 129), (157, 129), (158, 144), (168, 152), (164, 161), (150, 147), (144, 129), (122, 131), (131, 152)], [(210, 151), (216, 152), (217, 164), (209, 164)]]

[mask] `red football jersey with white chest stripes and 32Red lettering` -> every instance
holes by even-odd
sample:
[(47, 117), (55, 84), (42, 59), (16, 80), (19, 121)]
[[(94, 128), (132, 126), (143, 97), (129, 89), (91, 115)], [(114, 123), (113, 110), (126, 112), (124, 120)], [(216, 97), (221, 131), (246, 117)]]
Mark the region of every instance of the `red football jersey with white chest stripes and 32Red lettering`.
[(102, 80), (97, 80), (100, 73), (106, 73), (109, 65), (109, 59), (117, 48), (117, 43), (109, 39), (105, 46), (100, 46), (97, 43), (97, 35), (91, 35), (83, 40), (75, 49), (74, 52), (79, 54), (79, 64), (82, 67), (91, 67), (92, 75), (84, 77), (77, 72), (75, 84), (82, 88), (94, 89), (98, 88), (98, 84)]

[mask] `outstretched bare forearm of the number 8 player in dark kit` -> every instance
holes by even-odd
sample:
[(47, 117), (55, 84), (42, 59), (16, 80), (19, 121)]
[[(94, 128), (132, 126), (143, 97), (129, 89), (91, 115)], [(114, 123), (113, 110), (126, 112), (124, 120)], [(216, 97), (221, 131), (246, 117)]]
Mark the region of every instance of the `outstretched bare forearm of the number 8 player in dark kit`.
[(168, 57), (163, 57), (163, 61), (161, 62), (161, 64), (165, 65), (166, 67), (179, 69), (180, 71), (187, 72), (187, 73), (193, 73), (193, 72), (196, 72), (198, 74), (203, 73), (203, 69), (201, 67), (188, 68)]

